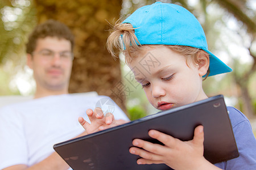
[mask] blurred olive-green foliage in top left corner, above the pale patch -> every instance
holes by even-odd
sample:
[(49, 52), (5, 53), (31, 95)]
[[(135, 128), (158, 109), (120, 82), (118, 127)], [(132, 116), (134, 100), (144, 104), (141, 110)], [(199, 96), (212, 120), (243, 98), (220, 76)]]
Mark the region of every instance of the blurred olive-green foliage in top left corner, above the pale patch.
[[(6, 2), (6, 1), (4, 1)], [(24, 54), (24, 44), (27, 34), (36, 24), (35, 8), (32, 1), (11, 1), (11, 4), (1, 3), (0, 6), (0, 63), (11, 59), (19, 65), (19, 59)], [(20, 55), (21, 54), (21, 55)]]

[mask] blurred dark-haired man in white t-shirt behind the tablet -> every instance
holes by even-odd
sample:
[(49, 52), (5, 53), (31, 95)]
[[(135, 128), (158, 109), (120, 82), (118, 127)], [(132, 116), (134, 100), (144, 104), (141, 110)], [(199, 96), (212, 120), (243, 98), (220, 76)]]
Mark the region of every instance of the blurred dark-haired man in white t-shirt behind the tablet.
[[(55, 143), (86, 132), (77, 121), (106, 96), (68, 94), (73, 35), (55, 20), (38, 25), (27, 43), (27, 65), (34, 71), (34, 100), (0, 110), (0, 169), (68, 169), (53, 150)], [(113, 103), (116, 119), (128, 120)]]

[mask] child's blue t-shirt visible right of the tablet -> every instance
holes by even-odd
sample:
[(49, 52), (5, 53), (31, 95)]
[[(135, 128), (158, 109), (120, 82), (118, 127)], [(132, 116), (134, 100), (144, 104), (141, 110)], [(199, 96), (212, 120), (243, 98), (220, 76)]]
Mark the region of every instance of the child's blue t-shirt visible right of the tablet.
[(214, 165), (221, 169), (256, 169), (256, 139), (250, 122), (236, 108), (227, 108), (240, 156)]

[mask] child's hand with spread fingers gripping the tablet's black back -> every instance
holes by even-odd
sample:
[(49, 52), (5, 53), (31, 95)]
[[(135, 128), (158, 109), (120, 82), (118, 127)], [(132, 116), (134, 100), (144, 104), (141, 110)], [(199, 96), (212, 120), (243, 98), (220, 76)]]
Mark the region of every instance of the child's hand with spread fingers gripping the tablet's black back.
[(137, 147), (131, 147), (129, 151), (141, 156), (137, 160), (138, 164), (164, 163), (173, 169), (202, 169), (205, 165), (213, 166), (203, 156), (203, 126), (197, 126), (193, 140), (186, 142), (156, 130), (148, 131), (148, 135), (162, 142), (164, 146), (134, 139), (133, 145)]

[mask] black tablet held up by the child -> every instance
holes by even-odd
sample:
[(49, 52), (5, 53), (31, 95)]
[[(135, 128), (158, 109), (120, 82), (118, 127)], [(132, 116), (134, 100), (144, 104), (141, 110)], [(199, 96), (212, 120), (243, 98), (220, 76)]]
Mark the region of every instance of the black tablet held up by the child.
[(198, 125), (204, 126), (204, 157), (210, 163), (239, 156), (222, 95), (57, 143), (53, 148), (74, 170), (171, 169), (165, 164), (138, 165), (139, 156), (129, 152), (133, 139), (160, 143), (148, 136), (148, 130), (155, 129), (181, 141), (189, 141)]

